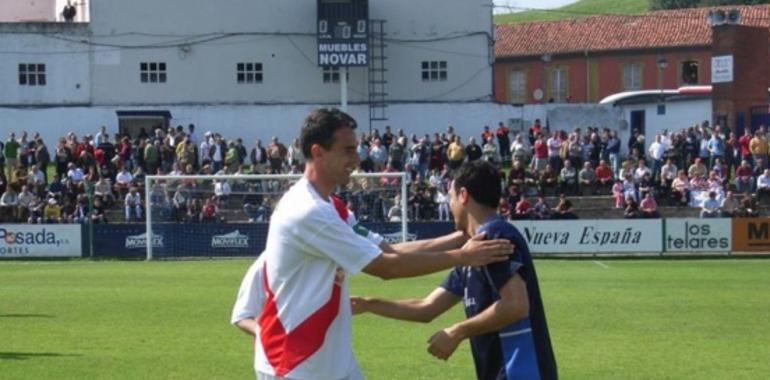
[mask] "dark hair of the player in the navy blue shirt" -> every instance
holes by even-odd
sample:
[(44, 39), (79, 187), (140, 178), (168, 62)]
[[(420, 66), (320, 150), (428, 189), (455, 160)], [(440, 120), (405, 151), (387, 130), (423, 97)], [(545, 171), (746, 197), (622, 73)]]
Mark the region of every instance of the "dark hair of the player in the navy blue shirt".
[(465, 188), (471, 198), (481, 205), (497, 208), (502, 190), (497, 168), (484, 160), (463, 164), (455, 172), (454, 189)]

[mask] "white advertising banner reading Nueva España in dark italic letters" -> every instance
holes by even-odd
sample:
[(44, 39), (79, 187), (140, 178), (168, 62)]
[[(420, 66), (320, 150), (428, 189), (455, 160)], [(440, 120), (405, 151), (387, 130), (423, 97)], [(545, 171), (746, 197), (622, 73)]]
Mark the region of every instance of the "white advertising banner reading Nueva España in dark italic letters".
[(513, 221), (532, 253), (660, 252), (662, 222), (644, 220)]

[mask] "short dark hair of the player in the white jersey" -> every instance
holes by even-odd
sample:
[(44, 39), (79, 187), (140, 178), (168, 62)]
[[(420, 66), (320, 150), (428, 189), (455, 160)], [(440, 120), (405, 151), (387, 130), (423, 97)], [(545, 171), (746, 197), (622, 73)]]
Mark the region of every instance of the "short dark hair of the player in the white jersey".
[(356, 129), (355, 119), (337, 108), (319, 108), (307, 115), (302, 123), (299, 144), (302, 155), (311, 159), (310, 148), (318, 144), (324, 149), (331, 149), (334, 144), (334, 132), (341, 128)]

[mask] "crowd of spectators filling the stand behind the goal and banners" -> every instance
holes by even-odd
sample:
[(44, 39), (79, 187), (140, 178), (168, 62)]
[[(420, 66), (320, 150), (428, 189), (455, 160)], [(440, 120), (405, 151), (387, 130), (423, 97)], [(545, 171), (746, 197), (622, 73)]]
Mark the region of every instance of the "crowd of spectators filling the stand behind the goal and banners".
[[(702, 217), (753, 216), (758, 201), (770, 194), (766, 134), (761, 126), (738, 138), (704, 122), (664, 130), (649, 145), (632, 131), (622, 149), (624, 142), (608, 128), (551, 131), (539, 120), (515, 134), (503, 123), (494, 130), (485, 126), (465, 140), (451, 126), (432, 136), (388, 126), (382, 133), (361, 133), (357, 172), (409, 173), (407, 211), (417, 221), (451, 218), (452, 173), (473, 160), (499, 165), (499, 211), (511, 219), (576, 218), (568, 197), (596, 194), (612, 195), (627, 218), (660, 217), (659, 204), (698, 207)], [(298, 174), (304, 161), (297, 139), (288, 146), (276, 137), (265, 146), (256, 140), (249, 149), (240, 138), (199, 136), (193, 124), (156, 127), (137, 136), (110, 134), (102, 127), (80, 139), (70, 133), (52, 150), (37, 133), (11, 132), (0, 145), (0, 221), (6, 222), (79, 223), (89, 217), (107, 222), (107, 210), (118, 207), (123, 221), (142, 221), (148, 173)], [(363, 220), (396, 221), (400, 181), (358, 178), (340, 195)], [(169, 180), (155, 182), (149, 194), (152, 212), (161, 220), (222, 221), (222, 208), (234, 207), (231, 196), (239, 195), (234, 204), (246, 218), (265, 222), (286, 186), (285, 181)], [(547, 196), (557, 195), (558, 203), (548, 205)]]

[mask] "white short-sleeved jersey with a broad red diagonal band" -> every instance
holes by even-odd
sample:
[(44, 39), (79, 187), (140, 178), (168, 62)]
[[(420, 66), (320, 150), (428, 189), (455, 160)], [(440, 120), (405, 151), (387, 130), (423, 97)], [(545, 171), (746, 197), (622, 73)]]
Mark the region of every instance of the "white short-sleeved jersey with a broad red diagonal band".
[(357, 234), (338, 207), (303, 178), (270, 219), (267, 247), (246, 274), (232, 316), (233, 323), (257, 317), (257, 372), (341, 379), (358, 368), (346, 274), (360, 272), (381, 250), (376, 236)]

